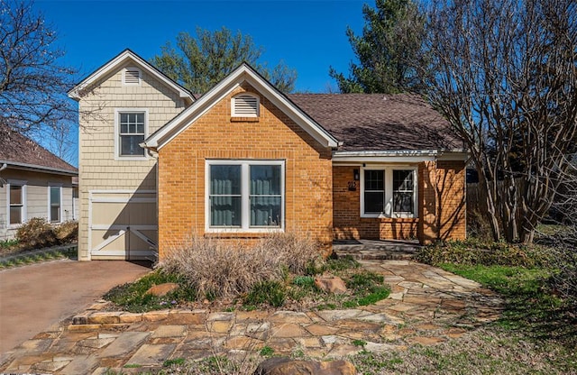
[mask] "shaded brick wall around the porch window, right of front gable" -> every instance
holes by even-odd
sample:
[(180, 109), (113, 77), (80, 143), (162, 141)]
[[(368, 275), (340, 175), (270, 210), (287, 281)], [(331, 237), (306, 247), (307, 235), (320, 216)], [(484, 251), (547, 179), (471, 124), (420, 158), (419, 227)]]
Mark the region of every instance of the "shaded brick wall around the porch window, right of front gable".
[(335, 239), (418, 238), (421, 243), (465, 237), (464, 162), (424, 161), (418, 164), (418, 218), (361, 217), (361, 188), (350, 191), (353, 169), (333, 167)]

